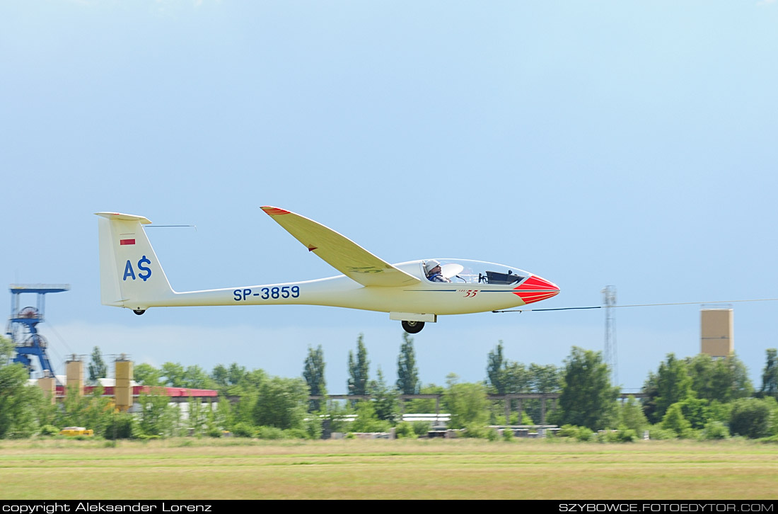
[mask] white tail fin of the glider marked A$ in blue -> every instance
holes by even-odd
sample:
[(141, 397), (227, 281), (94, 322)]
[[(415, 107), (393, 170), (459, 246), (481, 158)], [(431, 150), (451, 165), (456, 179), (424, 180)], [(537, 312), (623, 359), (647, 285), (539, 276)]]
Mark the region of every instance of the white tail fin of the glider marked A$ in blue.
[[(100, 301), (142, 312), (173, 296), (154, 254), (142, 216), (95, 213), (100, 230)], [(164, 305), (164, 304), (161, 304)]]

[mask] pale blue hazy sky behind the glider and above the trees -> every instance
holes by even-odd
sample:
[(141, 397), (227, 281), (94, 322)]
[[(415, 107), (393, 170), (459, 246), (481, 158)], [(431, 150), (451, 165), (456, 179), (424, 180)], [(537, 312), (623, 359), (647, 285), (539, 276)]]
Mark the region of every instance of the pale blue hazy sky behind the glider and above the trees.
[[(608, 285), (620, 305), (775, 298), (776, 48), (774, 0), (4, 0), (0, 284), (70, 284), (39, 326), (58, 373), (97, 346), (297, 377), (321, 345), (333, 394), (360, 333), (394, 383), (399, 322), (100, 305), (93, 213), (195, 225), (147, 231), (179, 291), (337, 274), (272, 205), (387, 262), (526, 269), (561, 288), (538, 308)], [(758, 389), (778, 302), (732, 307)], [(614, 310), (624, 390), (699, 353), (700, 308)], [(603, 350), (605, 315), (442, 316), (413, 339), (423, 383), (478, 382), (499, 341), (525, 364)]]

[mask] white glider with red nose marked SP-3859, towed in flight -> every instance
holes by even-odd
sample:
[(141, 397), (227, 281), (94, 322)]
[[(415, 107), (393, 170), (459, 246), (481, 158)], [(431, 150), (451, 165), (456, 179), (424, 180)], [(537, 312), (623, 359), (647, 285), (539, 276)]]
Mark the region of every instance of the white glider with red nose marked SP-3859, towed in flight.
[(522, 269), (464, 259), (389, 264), (341, 234), (277, 207), (262, 209), (342, 275), (302, 282), (177, 292), (154, 254), (142, 216), (100, 216), (103, 305), (141, 315), (152, 307), (187, 305), (329, 305), (388, 312), (408, 333), (439, 315), (519, 307), (559, 294), (554, 283)]

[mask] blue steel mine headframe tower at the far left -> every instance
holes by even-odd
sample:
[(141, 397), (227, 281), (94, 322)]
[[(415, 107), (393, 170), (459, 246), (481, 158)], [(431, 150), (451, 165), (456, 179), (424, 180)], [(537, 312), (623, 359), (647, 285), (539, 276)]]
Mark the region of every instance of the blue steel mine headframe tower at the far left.
[[(44, 321), (45, 296), (47, 293), (60, 293), (70, 289), (65, 284), (11, 284), (11, 318), (8, 323), (8, 335), (16, 349), (14, 362), (20, 362), (30, 371), (33, 370), (33, 357), (38, 357), (40, 369), (44, 375), (54, 375), (51, 362), (46, 354), (48, 343), (38, 333), (37, 324)], [(22, 294), (37, 294), (35, 307), (19, 308)]]

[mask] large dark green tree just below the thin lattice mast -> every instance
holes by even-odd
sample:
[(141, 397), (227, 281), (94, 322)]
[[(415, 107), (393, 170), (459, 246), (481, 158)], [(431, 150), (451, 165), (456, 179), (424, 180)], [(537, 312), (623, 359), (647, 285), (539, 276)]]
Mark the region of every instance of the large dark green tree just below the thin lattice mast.
[(615, 421), (619, 388), (611, 386), (608, 364), (602, 352), (573, 347), (565, 361), (559, 424), (600, 430)]

